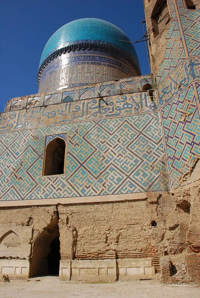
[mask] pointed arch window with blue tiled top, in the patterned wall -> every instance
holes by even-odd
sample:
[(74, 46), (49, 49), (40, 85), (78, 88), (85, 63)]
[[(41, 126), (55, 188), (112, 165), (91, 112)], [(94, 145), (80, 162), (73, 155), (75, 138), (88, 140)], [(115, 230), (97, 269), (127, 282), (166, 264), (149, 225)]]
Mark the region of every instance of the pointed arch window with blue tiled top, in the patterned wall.
[[(50, 140), (49, 140), (49, 139)], [(43, 176), (59, 175), (65, 172), (66, 138), (58, 136), (46, 137)]]

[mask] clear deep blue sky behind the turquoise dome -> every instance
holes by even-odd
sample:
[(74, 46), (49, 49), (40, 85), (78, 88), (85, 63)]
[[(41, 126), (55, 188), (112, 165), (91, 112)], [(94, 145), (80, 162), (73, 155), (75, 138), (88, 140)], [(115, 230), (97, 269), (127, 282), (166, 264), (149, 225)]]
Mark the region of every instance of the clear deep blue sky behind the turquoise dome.
[[(113, 23), (131, 41), (143, 35), (143, 0), (7, 0), (0, 3), (0, 112), (13, 97), (37, 93), (43, 48), (64, 24), (85, 17)], [(142, 74), (149, 74), (145, 43), (134, 45)]]

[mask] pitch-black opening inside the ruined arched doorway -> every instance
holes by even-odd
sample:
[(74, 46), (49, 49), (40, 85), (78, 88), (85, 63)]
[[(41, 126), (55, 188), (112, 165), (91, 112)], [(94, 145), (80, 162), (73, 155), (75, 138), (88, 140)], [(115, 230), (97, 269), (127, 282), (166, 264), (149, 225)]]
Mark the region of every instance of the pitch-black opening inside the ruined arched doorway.
[(48, 271), (50, 275), (59, 275), (60, 266), (60, 240), (55, 238), (50, 244), (51, 251), (47, 256)]

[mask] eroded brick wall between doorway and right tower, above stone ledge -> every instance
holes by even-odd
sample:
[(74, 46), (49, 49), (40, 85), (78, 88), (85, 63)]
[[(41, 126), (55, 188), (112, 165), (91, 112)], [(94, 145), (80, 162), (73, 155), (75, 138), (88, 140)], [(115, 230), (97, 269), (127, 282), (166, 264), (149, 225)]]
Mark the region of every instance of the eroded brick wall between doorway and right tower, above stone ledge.
[[(63, 257), (118, 259), (148, 257), (155, 253), (155, 243), (151, 242), (154, 242), (156, 229), (151, 222), (157, 221), (156, 208), (149, 208), (146, 200), (60, 205), (58, 211)], [(69, 239), (64, 239), (67, 234)], [(73, 243), (72, 247), (69, 242)], [(67, 255), (65, 250), (69, 251)]]

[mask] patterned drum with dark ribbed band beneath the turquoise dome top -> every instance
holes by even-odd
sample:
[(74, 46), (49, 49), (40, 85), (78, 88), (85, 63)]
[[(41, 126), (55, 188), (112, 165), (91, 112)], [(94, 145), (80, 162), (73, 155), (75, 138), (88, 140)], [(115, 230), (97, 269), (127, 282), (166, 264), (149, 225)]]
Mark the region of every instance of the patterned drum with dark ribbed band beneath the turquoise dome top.
[[(114, 57), (114, 58), (113, 58)], [(108, 44), (78, 43), (57, 50), (41, 65), (39, 92), (136, 76), (131, 56)]]

